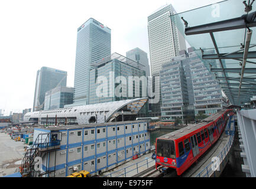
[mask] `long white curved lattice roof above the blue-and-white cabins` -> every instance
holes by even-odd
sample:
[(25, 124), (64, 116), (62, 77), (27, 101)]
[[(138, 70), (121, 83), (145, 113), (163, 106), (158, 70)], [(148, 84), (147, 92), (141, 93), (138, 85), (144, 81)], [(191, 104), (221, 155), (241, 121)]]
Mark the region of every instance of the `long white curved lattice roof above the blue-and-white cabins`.
[[(148, 98), (138, 98), (129, 100), (120, 100), (114, 102), (98, 103), (94, 105), (66, 107), (54, 110), (43, 110), (38, 112), (28, 112), (24, 116), (24, 120), (30, 118), (76, 118), (78, 124), (89, 123), (92, 116), (97, 117), (97, 123), (109, 122), (118, 116), (118, 110), (127, 106), (129, 113), (137, 114), (142, 106), (147, 102)], [(125, 114), (125, 112), (124, 112)]]

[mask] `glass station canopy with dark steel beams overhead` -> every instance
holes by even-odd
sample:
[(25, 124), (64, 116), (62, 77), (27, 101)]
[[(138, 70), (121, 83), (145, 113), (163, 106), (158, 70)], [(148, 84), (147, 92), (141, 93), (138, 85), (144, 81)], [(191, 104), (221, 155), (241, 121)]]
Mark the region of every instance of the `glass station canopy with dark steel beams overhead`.
[(232, 105), (243, 105), (256, 95), (256, 2), (253, 2), (226, 0), (170, 17), (219, 81)]

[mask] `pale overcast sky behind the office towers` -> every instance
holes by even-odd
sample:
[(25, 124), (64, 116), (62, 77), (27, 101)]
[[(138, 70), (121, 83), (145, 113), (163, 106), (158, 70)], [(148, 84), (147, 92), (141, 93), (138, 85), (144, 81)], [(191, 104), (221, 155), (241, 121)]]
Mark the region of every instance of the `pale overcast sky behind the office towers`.
[(77, 28), (89, 18), (111, 28), (111, 53), (139, 47), (150, 58), (148, 15), (166, 4), (183, 12), (219, 1), (0, 1), (0, 109), (9, 115), (32, 108), (43, 66), (67, 71), (67, 86), (74, 86)]

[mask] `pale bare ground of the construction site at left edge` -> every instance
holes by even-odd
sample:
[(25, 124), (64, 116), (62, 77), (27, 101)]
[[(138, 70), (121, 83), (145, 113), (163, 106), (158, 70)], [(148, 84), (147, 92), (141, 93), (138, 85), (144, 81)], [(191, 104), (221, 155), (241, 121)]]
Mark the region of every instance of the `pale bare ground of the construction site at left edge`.
[(8, 134), (0, 133), (0, 177), (18, 171), (25, 154), (24, 146), (23, 142), (15, 142)]

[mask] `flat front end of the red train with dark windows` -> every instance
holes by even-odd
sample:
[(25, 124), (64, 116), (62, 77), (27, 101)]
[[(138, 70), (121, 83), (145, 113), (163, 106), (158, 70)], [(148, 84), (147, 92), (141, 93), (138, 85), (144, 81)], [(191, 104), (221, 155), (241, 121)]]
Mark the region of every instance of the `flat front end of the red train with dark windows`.
[(174, 141), (170, 139), (157, 139), (155, 149), (155, 168), (160, 165), (176, 169), (176, 153)]

